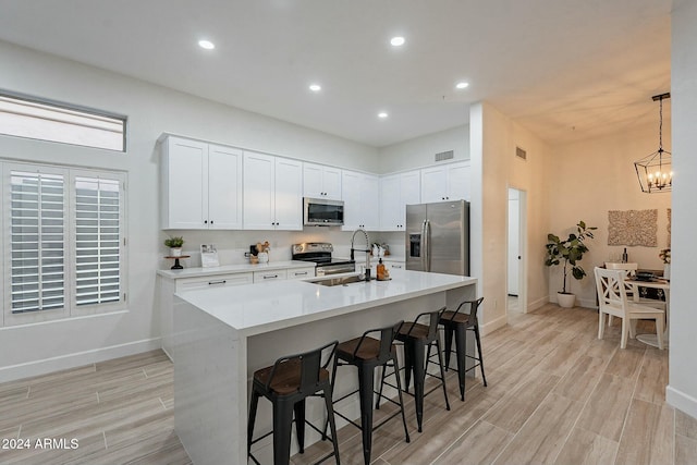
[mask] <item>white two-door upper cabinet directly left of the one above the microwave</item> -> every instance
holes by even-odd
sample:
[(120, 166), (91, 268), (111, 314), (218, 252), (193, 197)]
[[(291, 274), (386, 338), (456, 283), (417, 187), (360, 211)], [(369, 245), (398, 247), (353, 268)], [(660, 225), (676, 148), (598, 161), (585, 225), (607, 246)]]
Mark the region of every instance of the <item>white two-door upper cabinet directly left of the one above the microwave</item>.
[(303, 163), (244, 154), (244, 229), (303, 230)]

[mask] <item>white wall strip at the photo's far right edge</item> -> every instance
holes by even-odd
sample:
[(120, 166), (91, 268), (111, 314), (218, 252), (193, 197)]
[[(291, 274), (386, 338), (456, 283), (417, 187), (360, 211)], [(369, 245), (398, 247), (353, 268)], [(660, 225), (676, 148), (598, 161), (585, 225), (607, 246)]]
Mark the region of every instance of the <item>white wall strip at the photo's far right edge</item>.
[(665, 400), (697, 418), (695, 369), (695, 231), (697, 230), (697, 2), (674, 0), (671, 20), (673, 101), (673, 228), (671, 265), (670, 378)]

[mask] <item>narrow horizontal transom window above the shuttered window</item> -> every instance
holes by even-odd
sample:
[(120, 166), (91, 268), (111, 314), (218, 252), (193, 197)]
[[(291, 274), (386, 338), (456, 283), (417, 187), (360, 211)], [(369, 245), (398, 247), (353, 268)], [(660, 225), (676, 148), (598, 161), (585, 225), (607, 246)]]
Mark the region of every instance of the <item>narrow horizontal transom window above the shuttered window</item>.
[(0, 133), (125, 151), (126, 118), (0, 91)]

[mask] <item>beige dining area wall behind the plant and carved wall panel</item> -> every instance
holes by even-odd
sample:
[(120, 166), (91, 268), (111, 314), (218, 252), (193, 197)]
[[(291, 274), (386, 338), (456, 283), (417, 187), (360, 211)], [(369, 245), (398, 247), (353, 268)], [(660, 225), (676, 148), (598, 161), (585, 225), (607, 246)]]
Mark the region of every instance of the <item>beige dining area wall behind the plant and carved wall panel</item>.
[[(629, 261), (639, 264), (640, 268), (663, 269), (658, 253), (669, 244), (668, 209), (671, 207), (671, 194), (643, 193), (634, 169), (634, 161), (658, 149), (658, 105), (656, 107), (656, 124), (554, 147), (554, 157), (551, 159), (554, 195), (550, 198), (549, 232), (566, 237), (570, 232), (575, 232), (575, 224), (579, 220), (598, 228), (595, 237), (587, 242), (590, 252), (580, 262), (588, 277), (582, 281), (568, 279), (571, 290), (567, 287), (567, 291), (576, 294), (576, 305), (596, 306), (592, 269), (604, 261), (617, 261), (624, 249), (624, 246), (608, 245), (608, 210), (658, 209), (658, 245), (627, 246), (626, 249)], [(663, 146), (671, 151), (671, 121), (665, 115)], [(554, 302), (557, 292), (562, 289), (561, 267), (550, 269), (549, 287), (550, 301)]]

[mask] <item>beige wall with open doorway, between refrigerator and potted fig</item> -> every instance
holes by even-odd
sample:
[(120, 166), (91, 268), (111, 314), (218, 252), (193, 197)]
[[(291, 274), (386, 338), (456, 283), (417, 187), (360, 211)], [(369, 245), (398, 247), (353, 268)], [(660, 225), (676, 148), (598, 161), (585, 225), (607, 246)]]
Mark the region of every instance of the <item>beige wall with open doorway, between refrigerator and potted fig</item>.
[[(508, 189), (526, 192), (526, 235), (522, 255), (526, 267), (526, 305), (535, 309), (547, 302), (548, 280), (543, 266), (543, 244), (549, 225), (549, 148), (534, 134), (487, 102), (470, 107), (470, 160), (473, 168), (473, 276), (480, 277), (485, 297), (485, 332), (506, 322)], [(515, 156), (515, 148), (527, 150), (527, 160)]]

